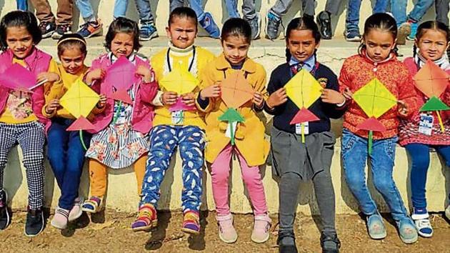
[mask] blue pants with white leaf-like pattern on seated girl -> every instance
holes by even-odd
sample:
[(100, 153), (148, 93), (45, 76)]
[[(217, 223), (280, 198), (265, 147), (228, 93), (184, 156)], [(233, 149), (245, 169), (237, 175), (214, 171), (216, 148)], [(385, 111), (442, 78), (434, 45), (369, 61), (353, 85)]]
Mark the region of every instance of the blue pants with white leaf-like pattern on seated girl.
[(142, 204), (156, 204), (161, 182), (176, 147), (183, 160), (183, 211), (198, 212), (201, 205), (201, 177), (203, 174), (205, 147), (204, 132), (199, 127), (157, 126), (151, 130), (150, 152), (142, 185)]

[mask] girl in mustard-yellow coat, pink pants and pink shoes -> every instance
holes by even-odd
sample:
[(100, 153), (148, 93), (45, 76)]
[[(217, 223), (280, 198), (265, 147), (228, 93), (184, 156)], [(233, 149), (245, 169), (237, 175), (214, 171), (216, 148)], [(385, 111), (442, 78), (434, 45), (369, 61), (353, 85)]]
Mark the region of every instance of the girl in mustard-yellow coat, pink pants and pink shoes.
[[(251, 26), (244, 19), (234, 18), (225, 22), (221, 33), (221, 45), (224, 53), (217, 57), (204, 72), (203, 86), (197, 101), (199, 109), (206, 112), (206, 162), (211, 164), (214, 202), (216, 203), (219, 237), (227, 243), (236, 242), (237, 234), (233, 227), (233, 217), (228, 203), (228, 178), (231, 154), (239, 157), (242, 178), (249, 190), (251, 205), (254, 208), (254, 229), (251, 240), (266, 242), (269, 239), (271, 219), (267, 214), (264, 186), (259, 166), (266, 162), (269, 142), (264, 139), (264, 124), (256, 116), (262, 111), (266, 96), (266, 71), (263, 66), (247, 57), (251, 43)], [(226, 137), (226, 122), (219, 117), (228, 109), (220, 99), (221, 89), (218, 83), (235, 71), (241, 71), (246, 77), (254, 96), (252, 101), (238, 109), (245, 122), (237, 126), (236, 145), (230, 144)], [(263, 96), (264, 94), (264, 96)], [(254, 149), (261, 147), (261, 149)]]

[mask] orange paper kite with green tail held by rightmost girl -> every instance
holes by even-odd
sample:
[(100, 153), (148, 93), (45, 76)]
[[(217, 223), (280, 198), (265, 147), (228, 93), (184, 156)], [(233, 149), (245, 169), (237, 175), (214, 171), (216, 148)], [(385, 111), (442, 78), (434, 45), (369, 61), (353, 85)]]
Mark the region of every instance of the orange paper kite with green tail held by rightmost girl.
[(439, 96), (449, 86), (449, 74), (432, 61), (426, 61), (426, 64), (414, 76), (414, 84), (419, 91), (429, 98), (420, 111), (436, 111), (441, 131), (444, 132), (444, 124), (439, 111), (449, 110), (450, 107), (444, 104)]

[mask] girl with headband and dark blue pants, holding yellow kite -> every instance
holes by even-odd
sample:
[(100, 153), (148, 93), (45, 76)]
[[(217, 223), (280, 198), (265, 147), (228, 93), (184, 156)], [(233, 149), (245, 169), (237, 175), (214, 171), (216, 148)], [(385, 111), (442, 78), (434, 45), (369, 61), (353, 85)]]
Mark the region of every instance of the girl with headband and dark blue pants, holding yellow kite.
[(101, 99), (89, 86), (82, 83), (88, 67), (86, 41), (79, 34), (65, 34), (58, 41), (58, 64), (56, 73), (59, 80), (52, 84), (46, 96), (42, 113), (51, 119), (47, 132), (48, 154), (51, 169), (61, 189), (58, 207), (51, 225), (65, 229), (67, 223), (78, 219), (81, 202), (78, 189), (84, 165), (84, 154), (91, 140), (91, 134), (84, 130), (92, 129), (89, 121), (76, 120), (79, 116), (91, 118), (104, 108), (106, 98)]

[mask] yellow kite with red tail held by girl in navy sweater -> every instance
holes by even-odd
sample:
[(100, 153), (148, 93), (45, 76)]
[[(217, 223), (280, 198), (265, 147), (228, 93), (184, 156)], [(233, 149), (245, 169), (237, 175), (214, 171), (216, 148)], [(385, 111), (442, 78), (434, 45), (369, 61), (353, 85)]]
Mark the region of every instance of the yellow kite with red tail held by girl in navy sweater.
[(291, 120), (290, 124), (301, 124), (301, 142), (305, 142), (304, 127), (305, 122), (318, 121), (319, 118), (308, 110), (311, 104), (319, 99), (321, 96), (321, 90), (319, 81), (314, 76), (301, 69), (288, 83), (284, 86), (286, 89), (286, 95), (299, 107), (299, 112)]

